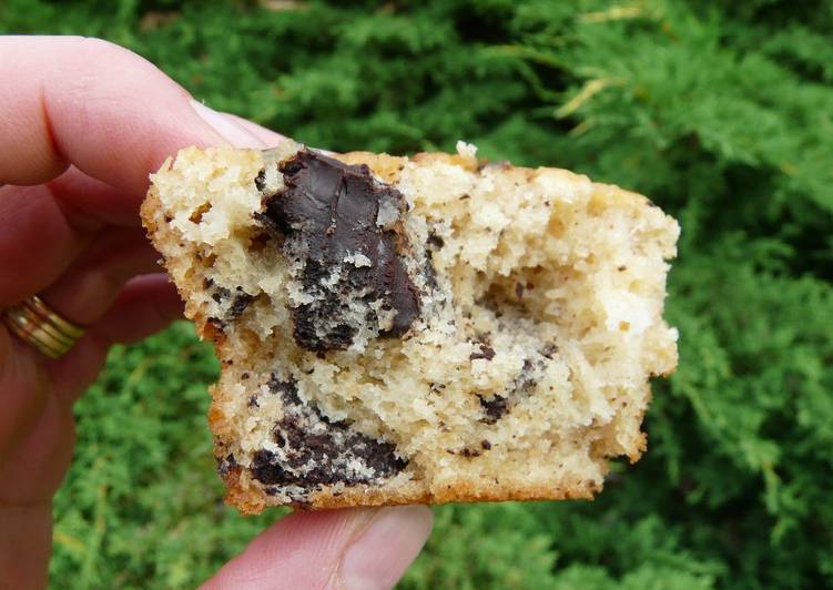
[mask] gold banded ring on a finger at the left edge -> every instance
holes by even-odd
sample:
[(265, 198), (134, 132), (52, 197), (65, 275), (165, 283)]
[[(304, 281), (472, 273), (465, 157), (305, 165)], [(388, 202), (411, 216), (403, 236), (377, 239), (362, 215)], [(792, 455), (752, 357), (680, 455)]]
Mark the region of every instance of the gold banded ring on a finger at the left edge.
[(84, 334), (37, 295), (6, 309), (3, 322), (18, 338), (50, 358), (65, 355)]

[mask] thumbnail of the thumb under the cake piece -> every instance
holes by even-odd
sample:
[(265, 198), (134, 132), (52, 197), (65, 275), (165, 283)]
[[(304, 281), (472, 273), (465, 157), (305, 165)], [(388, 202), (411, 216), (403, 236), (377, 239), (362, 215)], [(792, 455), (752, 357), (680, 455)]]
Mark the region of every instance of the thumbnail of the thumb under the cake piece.
[(389, 589), (419, 555), (431, 530), (425, 506), (383, 508), (344, 553), (341, 581), (347, 590)]

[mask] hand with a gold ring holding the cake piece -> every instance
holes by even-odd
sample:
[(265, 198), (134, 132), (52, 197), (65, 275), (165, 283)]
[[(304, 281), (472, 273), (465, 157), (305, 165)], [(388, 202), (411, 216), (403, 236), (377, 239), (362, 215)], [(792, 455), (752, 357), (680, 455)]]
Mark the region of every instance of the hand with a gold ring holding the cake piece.
[[(181, 315), (140, 226), (148, 174), (186, 145), (266, 148), (280, 135), (211, 111), (95, 39), (0, 38), (0, 309), (40, 294), (87, 329), (49, 359), (0, 326), (0, 581), (39, 588), (73, 401), (111, 344)], [(294, 513), (206, 586), (392, 587), (429, 529), (424, 507)]]

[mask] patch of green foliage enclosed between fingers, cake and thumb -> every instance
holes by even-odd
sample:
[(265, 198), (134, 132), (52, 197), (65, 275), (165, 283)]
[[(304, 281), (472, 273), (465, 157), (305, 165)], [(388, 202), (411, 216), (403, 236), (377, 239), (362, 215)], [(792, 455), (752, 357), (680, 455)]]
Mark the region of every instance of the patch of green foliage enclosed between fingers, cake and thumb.
[(205, 418), (216, 373), (185, 324), (111, 353), (78, 406), (55, 498), (57, 588), (192, 587), (280, 516), (242, 519), (222, 503)]

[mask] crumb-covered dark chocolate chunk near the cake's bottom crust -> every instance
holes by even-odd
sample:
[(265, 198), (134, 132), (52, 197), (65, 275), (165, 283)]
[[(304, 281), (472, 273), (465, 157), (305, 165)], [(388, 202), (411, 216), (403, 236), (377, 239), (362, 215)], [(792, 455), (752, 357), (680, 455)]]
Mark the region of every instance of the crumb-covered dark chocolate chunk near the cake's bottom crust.
[(393, 477), (407, 465), (396, 456), (395, 445), (353, 430), (344, 420), (333, 421), (317, 407), (304, 404), (296, 382), (273, 375), (267, 385), (284, 403), (284, 417), (273, 430), (284, 457), (267, 449), (254, 454), (252, 474), (262, 484), (354, 486)]

